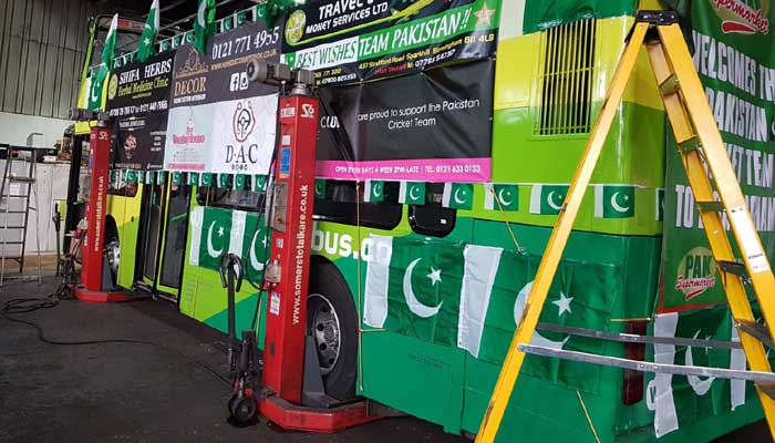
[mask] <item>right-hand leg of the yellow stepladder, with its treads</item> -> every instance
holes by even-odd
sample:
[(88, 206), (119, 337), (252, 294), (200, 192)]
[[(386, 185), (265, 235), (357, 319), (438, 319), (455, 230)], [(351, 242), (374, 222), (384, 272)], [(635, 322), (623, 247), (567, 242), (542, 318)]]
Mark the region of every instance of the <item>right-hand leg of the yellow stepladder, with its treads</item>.
[[(751, 214), (745, 204), (737, 177), (726, 155), (726, 150), (724, 150), (721, 133), (719, 132), (710, 105), (707, 104), (702, 83), (700, 82), (696, 71), (694, 71), (691, 55), (683, 41), (683, 34), (678, 24), (659, 27), (658, 32), (660, 35), (660, 44), (649, 45), (649, 55), (654, 69), (654, 75), (660, 84), (668, 81), (670, 76), (674, 76), (673, 80), (678, 82), (678, 92), (664, 94), (663, 101), (668, 119), (670, 120), (671, 127), (675, 135), (675, 141), (679, 144), (679, 152), (683, 159), (686, 178), (692, 187), (695, 199), (699, 205), (700, 203), (714, 200), (713, 186), (705, 171), (705, 166), (707, 166), (710, 174), (712, 174), (715, 179), (719, 196), (726, 210), (730, 225), (738, 245), (741, 241), (738, 233), (741, 227), (737, 226), (736, 220), (728, 215), (731, 214), (731, 209), (741, 207), (744, 210), (742, 214), (742, 222), (753, 231), (746, 235), (753, 234), (755, 240), (758, 243), (758, 234), (753, 228)], [(694, 134), (694, 131), (696, 131), (696, 134)], [(700, 148), (682, 152), (681, 143), (691, 141), (694, 136), (696, 136), (696, 141), (700, 143)], [(717, 212), (702, 210), (701, 206), (700, 209), (700, 217), (707, 236), (709, 245), (713, 251), (716, 267), (720, 274), (724, 276), (724, 278), (722, 278), (722, 284), (726, 292), (732, 316), (735, 322), (737, 322), (737, 320), (755, 321), (741, 276), (727, 272), (719, 264), (719, 260), (734, 260), (732, 245), (730, 244), (721, 215)], [(760, 250), (762, 250), (761, 243), (758, 243), (758, 247)], [(756, 274), (751, 271), (752, 266), (744, 250), (743, 258), (746, 269), (753, 279)], [(763, 259), (766, 260), (766, 256)], [(772, 323), (767, 321), (765, 306), (767, 309), (774, 307), (769, 306), (772, 300), (760, 296), (760, 293), (772, 293), (772, 289), (775, 287), (775, 285), (771, 285), (768, 281), (773, 279), (773, 275), (768, 269), (768, 262), (766, 262), (766, 265), (767, 269), (765, 271), (757, 272), (761, 276), (760, 279), (763, 281), (760, 282), (758, 287), (754, 285), (754, 292), (760, 300), (760, 305), (763, 307), (762, 311), (768, 324), (769, 334), (772, 336)], [(760, 292), (761, 290), (767, 290), (767, 292)], [(775, 316), (769, 318), (775, 320)], [(741, 330), (740, 327), (738, 331), (750, 368), (754, 371), (771, 372), (772, 369), (763, 343), (756, 337)], [(760, 383), (756, 383), (756, 391), (767, 418), (769, 432), (772, 435), (775, 435), (775, 400), (762, 389)]]

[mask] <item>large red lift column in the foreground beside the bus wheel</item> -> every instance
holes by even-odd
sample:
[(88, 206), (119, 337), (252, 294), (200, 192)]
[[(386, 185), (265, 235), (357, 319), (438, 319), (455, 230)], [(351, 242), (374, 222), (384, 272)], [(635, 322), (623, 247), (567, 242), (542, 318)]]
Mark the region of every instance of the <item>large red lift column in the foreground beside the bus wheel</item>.
[(331, 409), (300, 405), (319, 104), (314, 97), (292, 95), (281, 97), (279, 105), (276, 210), (271, 222), (272, 226), (279, 223), (286, 228), (273, 229), (271, 237), (270, 257), (280, 266), (280, 282), (268, 287), (265, 391), (257, 399), (258, 408), (264, 416), (285, 429), (335, 432), (379, 416), (370, 415), (365, 400)]

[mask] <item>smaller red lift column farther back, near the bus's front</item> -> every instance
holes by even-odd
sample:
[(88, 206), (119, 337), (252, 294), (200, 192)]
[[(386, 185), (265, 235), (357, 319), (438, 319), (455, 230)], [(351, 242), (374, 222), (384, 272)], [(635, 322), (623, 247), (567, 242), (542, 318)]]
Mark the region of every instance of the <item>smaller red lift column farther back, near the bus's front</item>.
[(106, 292), (102, 288), (103, 229), (110, 158), (111, 130), (104, 125), (93, 126), (89, 141), (89, 175), (92, 189), (86, 203), (86, 237), (81, 245), (81, 285), (75, 288), (75, 297), (83, 301), (108, 302), (130, 299), (123, 292)]

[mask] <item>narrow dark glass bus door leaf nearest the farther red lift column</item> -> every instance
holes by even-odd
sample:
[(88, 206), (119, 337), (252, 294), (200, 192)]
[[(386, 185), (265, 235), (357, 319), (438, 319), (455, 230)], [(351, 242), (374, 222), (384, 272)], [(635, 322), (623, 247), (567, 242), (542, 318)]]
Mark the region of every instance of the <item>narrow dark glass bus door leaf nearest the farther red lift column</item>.
[(135, 268), (135, 286), (148, 292), (155, 291), (156, 266), (159, 257), (162, 215), (164, 214), (165, 186), (143, 185), (143, 199), (140, 210), (140, 246)]

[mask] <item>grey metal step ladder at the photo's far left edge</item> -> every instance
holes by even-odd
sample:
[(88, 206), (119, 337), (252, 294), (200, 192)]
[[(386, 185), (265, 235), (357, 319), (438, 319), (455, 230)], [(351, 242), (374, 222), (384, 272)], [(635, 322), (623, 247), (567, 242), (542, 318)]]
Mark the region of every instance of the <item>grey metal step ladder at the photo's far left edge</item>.
[[(38, 209), (38, 167), (34, 147), (4, 145), (6, 165), (0, 182), (0, 229), (2, 229), (2, 249), (0, 249), (0, 287), (4, 285), (6, 261), (19, 264), (19, 276), (24, 271), (24, 251), (30, 210)], [(19, 165), (19, 167), (14, 167)], [(34, 200), (34, 206), (31, 205)], [(37, 214), (37, 213), (35, 213)], [(39, 223), (40, 217), (35, 217)], [(35, 245), (38, 250), (38, 282), (41, 281), (40, 229), (35, 226)]]

